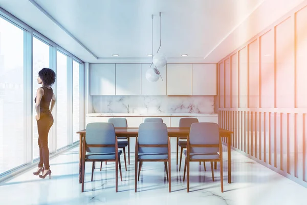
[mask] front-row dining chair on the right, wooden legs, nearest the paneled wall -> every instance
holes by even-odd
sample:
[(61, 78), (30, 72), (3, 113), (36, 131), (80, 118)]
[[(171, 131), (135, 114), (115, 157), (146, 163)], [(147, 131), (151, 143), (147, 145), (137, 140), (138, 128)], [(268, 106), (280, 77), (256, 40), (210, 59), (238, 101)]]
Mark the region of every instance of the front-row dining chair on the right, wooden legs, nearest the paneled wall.
[[(218, 152), (218, 153), (217, 153)], [(214, 181), (213, 162), (220, 161), (221, 191), (223, 188), (223, 150), (220, 142), (218, 125), (213, 122), (193, 123), (187, 139), (187, 149), (184, 150), (186, 160), (184, 163), (183, 181), (187, 171), (187, 192), (189, 192), (190, 162), (210, 161), (212, 180)]]

